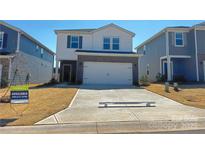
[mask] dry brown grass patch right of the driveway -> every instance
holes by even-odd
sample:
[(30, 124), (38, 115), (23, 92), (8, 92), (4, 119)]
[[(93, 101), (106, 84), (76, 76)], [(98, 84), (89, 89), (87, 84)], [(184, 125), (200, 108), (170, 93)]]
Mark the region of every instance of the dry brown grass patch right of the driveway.
[(163, 84), (151, 84), (146, 89), (184, 105), (205, 109), (205, 85), (180, 85), (179, 87), (181, 90), (178, 92), (171, 87), (169, 93), (164, 91)]

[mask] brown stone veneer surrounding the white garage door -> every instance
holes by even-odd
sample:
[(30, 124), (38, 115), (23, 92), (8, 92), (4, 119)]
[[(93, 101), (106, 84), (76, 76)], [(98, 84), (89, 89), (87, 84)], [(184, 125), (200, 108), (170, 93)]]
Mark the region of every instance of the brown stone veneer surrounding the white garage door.
[(114, 57), (114, 56), (87, 56), (78, 55), (77, 62), (77, 83), (83, 82), (83, 64), (85, 61), (91, 62), (113, 62), (113, 63), (132, 63), (133, 84), (138, 84), (138, 58), (137, 57)]

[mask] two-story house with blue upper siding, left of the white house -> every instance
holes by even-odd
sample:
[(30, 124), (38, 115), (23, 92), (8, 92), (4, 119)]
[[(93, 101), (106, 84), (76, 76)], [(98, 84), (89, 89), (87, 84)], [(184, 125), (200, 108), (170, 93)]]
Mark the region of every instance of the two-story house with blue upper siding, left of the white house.
[(0, 21), (0, 82), (14, 79), (24, 83), (45, 83), (53, 75), (54, 52), (24, 31)]

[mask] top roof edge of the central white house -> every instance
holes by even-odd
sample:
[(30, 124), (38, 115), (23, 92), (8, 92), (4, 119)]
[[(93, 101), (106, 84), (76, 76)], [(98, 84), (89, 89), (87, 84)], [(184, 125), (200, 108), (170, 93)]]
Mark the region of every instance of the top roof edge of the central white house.
[(100, 28), (92, 28), (92, 29), (62, 29), (62, 30), (55, 30), (55, 33), (57, 34), (58, 32), (86, 32), (86, 33), (95, 33), (97, 31), (100, 31), (102, 29), (105, 29), (105, 28), (108, 28), (108, 27), (114, 27), (114, 28), (117, 28), (121, 31), (124, 31), (128, 34), (130, 34), (132, 37), (135, 36), (135, 33), (131, 32), (131, 31), (128, 31), (127, 29), (124, 29), (116, 24), (108, 24), (108, 25), (105, 25), (105, 26), (102, 26)]

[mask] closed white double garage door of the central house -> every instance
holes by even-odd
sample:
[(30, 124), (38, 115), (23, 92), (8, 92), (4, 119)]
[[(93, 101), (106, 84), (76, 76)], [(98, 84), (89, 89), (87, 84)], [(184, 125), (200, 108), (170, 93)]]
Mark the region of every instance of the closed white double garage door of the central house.
[(132, 64), (84, 62), (83, 83), (132, 85)]

